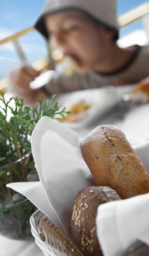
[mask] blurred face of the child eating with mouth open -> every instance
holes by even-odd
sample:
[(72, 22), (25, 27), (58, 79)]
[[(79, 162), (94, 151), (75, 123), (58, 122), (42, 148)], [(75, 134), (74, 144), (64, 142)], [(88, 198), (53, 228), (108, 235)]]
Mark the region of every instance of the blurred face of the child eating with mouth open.
[(112, 33), (77, 12), (49, 15), (45, 23), (54, 47), (72, 56), (83, 73), (102, 62), (112, 41)]

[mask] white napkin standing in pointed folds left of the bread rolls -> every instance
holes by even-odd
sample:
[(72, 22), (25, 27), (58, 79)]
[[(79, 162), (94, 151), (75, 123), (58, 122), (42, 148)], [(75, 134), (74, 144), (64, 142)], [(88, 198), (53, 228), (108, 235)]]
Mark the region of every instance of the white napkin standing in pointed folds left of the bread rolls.
[[(31, 141), (40, 182), (7, 185), (29, 198), (69, 239), (72, 239), (70, 219), (74, 198), (81, 189), (95, 185), (81, 155), (82, 141), (71, 129), (43, 117), (37, 123)], [(149, 157), (146, 153), (149, 152), (149, 142), (134, 148), (149, 173)], [(104, 248), (104, 244), (102, 246)]]

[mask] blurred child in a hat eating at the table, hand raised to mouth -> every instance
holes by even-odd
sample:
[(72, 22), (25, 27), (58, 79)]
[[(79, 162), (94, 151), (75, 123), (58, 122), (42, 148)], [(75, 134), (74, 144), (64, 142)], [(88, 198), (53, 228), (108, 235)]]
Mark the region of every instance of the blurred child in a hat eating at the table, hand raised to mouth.
[(33, 103), (48, 96), (107, 85), (134, 84), (149, 76), (149, 49), (117, 46), (119, 25), (116, 0), (47, 0), (35, 28), (77, 63), (72, 77), (54, 73), (49, 84), (32, 90), (29, 83), (40, 72), (30, 67), (15, 70), (11, 84), (17, 95)]

